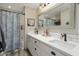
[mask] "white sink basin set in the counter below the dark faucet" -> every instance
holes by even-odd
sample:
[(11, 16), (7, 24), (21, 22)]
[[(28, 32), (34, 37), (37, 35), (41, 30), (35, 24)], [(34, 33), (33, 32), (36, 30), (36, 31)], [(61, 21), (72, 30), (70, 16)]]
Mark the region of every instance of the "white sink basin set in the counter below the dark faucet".
[(66, 48), (66, 49), (74, 49), (76, 47), (75, 44), (60, 41), (60, 40), (50, 40), (49, 42), (55, 44), (56, 46), (61, 46), (61, 47)]

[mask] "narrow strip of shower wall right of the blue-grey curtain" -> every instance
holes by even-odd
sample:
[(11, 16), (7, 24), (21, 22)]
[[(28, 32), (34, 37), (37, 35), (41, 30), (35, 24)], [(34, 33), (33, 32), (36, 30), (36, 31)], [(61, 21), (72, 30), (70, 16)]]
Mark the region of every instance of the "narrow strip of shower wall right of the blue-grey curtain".
[[(21, 29), (21, 26), (23, 29)], [(24, 24), (24, 15), (20, 14), (20, 43), (21, 49), (24, 49), (24, 39), (25, 39), (25, 24)]]

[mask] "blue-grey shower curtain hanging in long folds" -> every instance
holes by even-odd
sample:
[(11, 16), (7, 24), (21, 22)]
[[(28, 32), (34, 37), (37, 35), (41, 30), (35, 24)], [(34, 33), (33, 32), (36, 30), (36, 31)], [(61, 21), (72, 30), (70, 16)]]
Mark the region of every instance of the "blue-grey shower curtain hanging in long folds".
[(20, 49), (20, 14), (0, 11), (0, 25), (4, 32), (6, 51)]

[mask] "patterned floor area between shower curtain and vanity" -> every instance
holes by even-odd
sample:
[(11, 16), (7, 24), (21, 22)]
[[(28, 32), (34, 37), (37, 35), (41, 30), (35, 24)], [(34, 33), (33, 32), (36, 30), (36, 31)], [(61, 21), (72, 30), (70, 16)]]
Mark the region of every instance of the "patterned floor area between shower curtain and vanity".
[(3, 53), (1, 56), (32, 56), (28, 50), (17, 50)]

